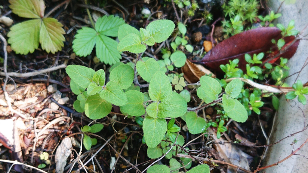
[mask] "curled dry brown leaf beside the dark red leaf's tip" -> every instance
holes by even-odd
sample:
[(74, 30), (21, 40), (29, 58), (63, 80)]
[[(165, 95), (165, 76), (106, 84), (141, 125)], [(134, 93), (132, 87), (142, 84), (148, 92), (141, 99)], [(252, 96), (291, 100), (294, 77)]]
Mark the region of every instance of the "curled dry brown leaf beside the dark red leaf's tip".
[(182, 67), (182, 72), (184, 74), (184, 78), (189, 83), (198, 82), (201, 76), (204, 76), (205, 74), (212, 74), (212, 77), (216, 78), (210, 70), (206, 69), (204, 66), (194, 64), (188, 59), (186, 59), (185, 65)]

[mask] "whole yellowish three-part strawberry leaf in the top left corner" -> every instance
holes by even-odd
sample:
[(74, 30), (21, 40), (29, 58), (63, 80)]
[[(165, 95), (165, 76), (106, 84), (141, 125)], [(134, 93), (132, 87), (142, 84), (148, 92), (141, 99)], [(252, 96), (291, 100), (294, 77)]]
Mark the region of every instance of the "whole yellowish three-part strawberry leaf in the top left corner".
[(17, 54), (33, 53), (39, 43), (47, 53), (62, 50), (65, 31), (55, 18), (44, 18), (43, 0), (10, 0), (12, 12), (20, 17), (34, 18), (15, 24), (7, 34), (8, 43)]

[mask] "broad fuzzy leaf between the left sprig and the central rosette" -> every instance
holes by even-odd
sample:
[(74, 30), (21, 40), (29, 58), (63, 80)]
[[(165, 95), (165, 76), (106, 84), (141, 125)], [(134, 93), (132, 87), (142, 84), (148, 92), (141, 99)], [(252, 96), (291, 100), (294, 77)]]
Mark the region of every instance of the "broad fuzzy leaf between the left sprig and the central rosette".
[(141, 116), (145, 113), (143, 101), (144, 95), (140, 91), (130, 90), (126, 91), (127, 103), (120, 106), (121, 110), (132, 116)]

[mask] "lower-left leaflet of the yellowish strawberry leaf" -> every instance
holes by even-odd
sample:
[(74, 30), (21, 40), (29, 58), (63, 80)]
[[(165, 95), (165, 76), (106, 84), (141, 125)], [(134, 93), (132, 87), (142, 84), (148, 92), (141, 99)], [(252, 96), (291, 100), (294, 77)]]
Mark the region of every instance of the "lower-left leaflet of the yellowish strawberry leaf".
[(7, 34), (7, 42), (16, 54), (33, 53), (39, 47), (41, 19), (33, 19), (13, 25)]

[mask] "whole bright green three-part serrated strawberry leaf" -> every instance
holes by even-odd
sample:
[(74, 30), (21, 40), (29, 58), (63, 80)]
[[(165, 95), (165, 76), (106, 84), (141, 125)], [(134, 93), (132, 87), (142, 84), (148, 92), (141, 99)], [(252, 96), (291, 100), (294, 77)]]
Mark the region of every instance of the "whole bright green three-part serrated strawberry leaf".
[(98, 18), (95, 29), (83, 27), (77, 31), (72, 46), (74, 52), (79, 56), (87, 56), (96, 46), (96, 56), (101, 62), (110, 65), (119, 62), (121, 53), (117, 50), (118, 42), (110, 37), (118, 36), (119, 26), (124, 23), (122, 18), (113, 15)]

